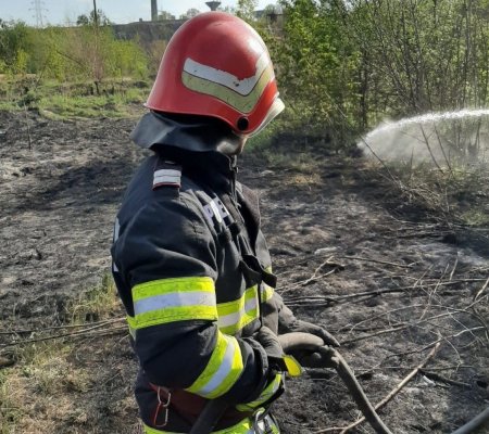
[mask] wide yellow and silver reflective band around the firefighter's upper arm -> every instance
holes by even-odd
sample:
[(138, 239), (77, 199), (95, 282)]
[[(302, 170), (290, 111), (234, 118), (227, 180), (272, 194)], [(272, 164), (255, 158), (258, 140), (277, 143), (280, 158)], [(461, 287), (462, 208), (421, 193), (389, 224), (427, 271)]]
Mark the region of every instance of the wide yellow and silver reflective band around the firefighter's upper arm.
[(133, 329), (192, 319), (217, 320), (211, 278), (161, 279), (133, 288)]

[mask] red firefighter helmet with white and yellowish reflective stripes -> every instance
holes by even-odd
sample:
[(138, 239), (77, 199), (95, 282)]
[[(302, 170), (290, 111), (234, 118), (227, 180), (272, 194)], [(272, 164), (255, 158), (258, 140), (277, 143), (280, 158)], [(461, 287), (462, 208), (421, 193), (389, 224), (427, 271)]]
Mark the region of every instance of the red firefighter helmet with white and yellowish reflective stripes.
[(242, 20), (206, 12), (172, 37), (146, 106), (217, 117), (256, 133), (284, 108), (268, 50)]

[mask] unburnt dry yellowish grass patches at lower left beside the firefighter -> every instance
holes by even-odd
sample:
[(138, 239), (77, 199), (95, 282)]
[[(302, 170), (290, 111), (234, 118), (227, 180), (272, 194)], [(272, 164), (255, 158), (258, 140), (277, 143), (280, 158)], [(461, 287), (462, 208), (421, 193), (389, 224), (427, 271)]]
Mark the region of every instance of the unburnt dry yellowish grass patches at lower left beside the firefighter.
[[(120, 315), (120, 304), (112, 280), (104, 277), (99, 286), (68, 307), (66, 326), (89, 326), (87, 321), (100, 321), (114, 314)], [(43, 336), (46, 332), (39, 330), (28, 340)], [(13, 348), (10, 355), (15, 365), (0, 370), (0, 434), (59, 433), (60, 425), (87, 423), (89, 414), (79, 406), (79, 399), (96, 386), (99, 372), (79, 359), (92, 349), (90, 344), (55, 339)]]

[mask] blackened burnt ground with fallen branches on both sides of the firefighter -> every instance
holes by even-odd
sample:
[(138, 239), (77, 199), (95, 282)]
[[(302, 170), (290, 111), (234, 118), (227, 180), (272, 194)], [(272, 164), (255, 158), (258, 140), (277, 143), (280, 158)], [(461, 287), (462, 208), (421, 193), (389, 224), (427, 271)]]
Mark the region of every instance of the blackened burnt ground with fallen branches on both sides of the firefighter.
[[(136, 432), (136, 361), (124, 332), (73, 337), (43, 387), (23, 368), (20, 345), (9, 345), (65, 324), (72, 301), (109, 272), (113, 218), (143, 156), (128, 140), (134, 124), (0, 113), (0, 386), (18, 395), (0, 403), (8, 433)], [(487, 408), (487, 238), (406, 203), (361, 158), (311, 158), (297, 139), (274, 152), (267, 164), (246, 155), (240, 176), (261, 195), (287, 304), (336, 334), (373, 403), (440, 344), (380, 410), (387, 425), (449, 433)], [(286, 434), (339, 432), (359, 417), (330, 370), (290, 380), (275, 409)]]

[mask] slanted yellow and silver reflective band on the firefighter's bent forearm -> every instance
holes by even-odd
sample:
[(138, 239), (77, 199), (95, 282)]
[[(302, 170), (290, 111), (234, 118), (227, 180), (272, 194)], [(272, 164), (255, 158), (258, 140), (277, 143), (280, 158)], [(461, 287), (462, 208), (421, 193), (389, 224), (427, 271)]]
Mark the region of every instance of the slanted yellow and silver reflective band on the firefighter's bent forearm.
[(216, 398), (229, 391), (241, 375), (242, 369), (238, 341), (217, 331), (217, 344), (208, 366), (186, 391), (208, 399)]

